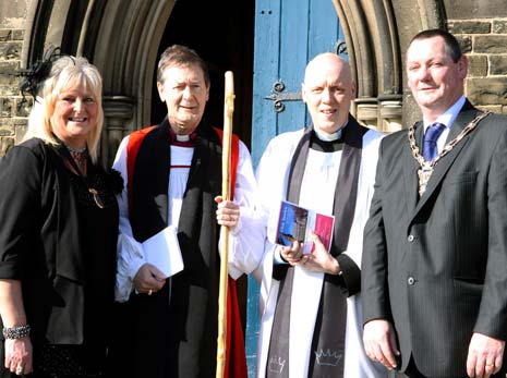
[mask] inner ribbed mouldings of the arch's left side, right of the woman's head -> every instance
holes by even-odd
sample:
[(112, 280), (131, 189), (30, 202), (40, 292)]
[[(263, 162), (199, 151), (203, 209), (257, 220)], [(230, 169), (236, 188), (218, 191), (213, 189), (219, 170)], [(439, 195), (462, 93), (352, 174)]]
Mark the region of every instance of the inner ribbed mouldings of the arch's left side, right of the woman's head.
[(122, 137), (150, 122), (157, 51), (173, 0), (97, 1), (85, 50), (104, 75), (101, 156), (112, 160)]

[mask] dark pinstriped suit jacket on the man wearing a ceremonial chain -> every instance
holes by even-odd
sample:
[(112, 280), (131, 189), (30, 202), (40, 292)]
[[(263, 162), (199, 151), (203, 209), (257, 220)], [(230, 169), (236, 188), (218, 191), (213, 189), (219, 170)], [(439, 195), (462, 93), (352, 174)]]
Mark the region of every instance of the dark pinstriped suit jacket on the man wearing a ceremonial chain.
[[(461, 109), (447, 142), (478, 115)], [(421, 146), (423, 126), (415, 130)], [(507, 120), (490, 114), (418, 199), (407, 131), (385, 137), (364, 231), (364, 321), (394, 322), (405, 369), (464, 377), (473, 332), (507, 339)], [(505, 366), (505, 363), (504, 363)]]

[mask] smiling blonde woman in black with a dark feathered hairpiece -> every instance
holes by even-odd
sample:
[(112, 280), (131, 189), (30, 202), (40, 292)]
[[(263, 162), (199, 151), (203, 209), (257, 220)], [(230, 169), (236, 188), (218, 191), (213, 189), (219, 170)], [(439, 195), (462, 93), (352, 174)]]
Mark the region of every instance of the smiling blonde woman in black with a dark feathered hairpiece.
[(101, 77), (60, 57), (28, 78), (36, 109), (0, 162), (0, 376), (101, 377), (122, 188), (97, 159)]

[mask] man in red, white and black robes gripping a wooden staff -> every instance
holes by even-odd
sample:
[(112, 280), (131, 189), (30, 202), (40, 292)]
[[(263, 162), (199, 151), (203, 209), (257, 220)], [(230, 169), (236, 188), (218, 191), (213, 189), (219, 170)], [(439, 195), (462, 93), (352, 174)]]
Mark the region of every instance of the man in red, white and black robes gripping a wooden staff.
[(222, 200), (221, 133), (203, 119), (209, 97), (205, 62), (186, 47), (169, 47), (158, 63), (157, 87), (167, 118), (126, 136), (113, 164), (126, 185), (118, 197), (121, 304), (111, 376), (215, 377), (225, 224), (231, 230), (226, 371), (246, 377), (233, 280), (256, 268), (262, 256), (250, 247), (259, 237), (250, 154), (232, 138), (233, 202)]

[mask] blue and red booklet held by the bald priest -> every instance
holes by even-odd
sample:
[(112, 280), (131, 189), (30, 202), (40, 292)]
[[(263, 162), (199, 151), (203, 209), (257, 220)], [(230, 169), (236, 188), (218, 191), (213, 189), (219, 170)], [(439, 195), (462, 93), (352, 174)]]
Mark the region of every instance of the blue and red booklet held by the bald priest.
[(326, 249), (329, 251), (334, 224), (334, 216), (318, 214), (282, 200), (278, 217), (276, 243), (289, 246), (293, 240), (297, 240), (303, 243), (303, 252), (310, 254), (314, 249), (311, 237), (313, 231), (321, 239)]

